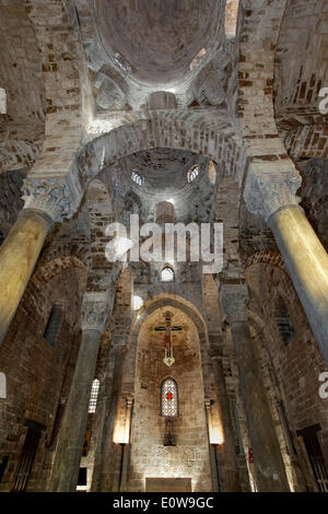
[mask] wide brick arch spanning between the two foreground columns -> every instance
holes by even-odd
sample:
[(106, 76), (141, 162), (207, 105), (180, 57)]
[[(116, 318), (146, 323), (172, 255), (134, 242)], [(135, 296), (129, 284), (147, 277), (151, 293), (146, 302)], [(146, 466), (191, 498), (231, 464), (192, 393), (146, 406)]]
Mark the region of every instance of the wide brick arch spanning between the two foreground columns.
[[(242, 186), (247, 162), (244, 149), (237, 143), (231, 127), (207, 128), (202, 124), (187, 124), (180, 117), (139, 119), (113, 129), (90, 141), (79, 152), (69, 171), (68, 183), (82, 197), (87, 184), (115, 161), (145, 150), (171, 148), (189, 150), (222, 164)], [(79, 192), (78, 192), (79, 191)], [(75, 198), (79, 202), (80, 198)]]

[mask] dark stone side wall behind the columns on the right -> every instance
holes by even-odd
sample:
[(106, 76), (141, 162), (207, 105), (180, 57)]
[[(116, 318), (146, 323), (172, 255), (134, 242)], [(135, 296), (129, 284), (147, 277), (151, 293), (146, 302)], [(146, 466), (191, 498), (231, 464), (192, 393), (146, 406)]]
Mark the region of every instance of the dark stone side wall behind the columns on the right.
[[(327, 372), (327, 365), (319, 352), (303, 307), (296, 296), (279, 254), (260, 257), (247, 268), (246, 276), (256, 301), (257, 312), (263, 323), (263, 337), (267, 359), (262, 362), (273, 366), (274, 382), (279, 384), (280, 399), (286, 412), (286, 421), (292, 433), (295, 454), (294, 480), (301, 490), (316, 490), (309, 460), (298, 431), (319, 424), (319, 443), (328, 468), (328, 418), (327, 399), (319, 397), (319, 374)], [(282, 299), (285, 315), (292, 323), (294, 336), (286, 343), (279, 329), (276, 304)], [(260, 350), (260, 348), (259, 348)], [(268, 360), (269, 359), (269, 360)], [(265, 375), (266, 376), (266, 373)], [(277, 397), (277, 390), (276, 390)], [(276, 406), (277, 408), (277, 406)], [(300, 471), (301, 469), (301, 471)], [(296, 478), (295, 478), (296, 474)]]

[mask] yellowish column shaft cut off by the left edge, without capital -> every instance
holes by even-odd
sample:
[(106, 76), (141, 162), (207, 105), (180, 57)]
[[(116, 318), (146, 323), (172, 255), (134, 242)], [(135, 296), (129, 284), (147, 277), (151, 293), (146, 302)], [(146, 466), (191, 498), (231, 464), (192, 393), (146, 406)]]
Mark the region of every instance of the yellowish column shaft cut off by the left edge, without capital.
[(24, 209), (0, 248), (0, 344), (24, 294), (51, 227), (42, 211)]

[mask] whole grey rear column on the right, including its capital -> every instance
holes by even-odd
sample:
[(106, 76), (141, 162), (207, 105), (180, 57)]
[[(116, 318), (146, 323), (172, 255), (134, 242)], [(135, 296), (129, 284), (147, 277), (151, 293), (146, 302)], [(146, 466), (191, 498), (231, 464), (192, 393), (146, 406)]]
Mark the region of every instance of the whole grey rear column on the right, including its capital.
[(257, 352), (248, 328), (247, 287), (221, 284), (220, 300), (227, 316), (236, 353), (257, 487), (260, 492), (289, 491), (273, 419), (260, 376)]

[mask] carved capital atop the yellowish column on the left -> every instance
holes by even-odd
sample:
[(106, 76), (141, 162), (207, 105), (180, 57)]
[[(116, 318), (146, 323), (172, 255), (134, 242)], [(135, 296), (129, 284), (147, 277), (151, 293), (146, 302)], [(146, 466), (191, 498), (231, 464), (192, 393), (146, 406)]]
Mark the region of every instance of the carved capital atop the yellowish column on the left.
[(71, 218), (75, 212), (68, 183), (61, 178), (26, 178), (22, 188), (24, 209), (37, 209), (54, 222)]

